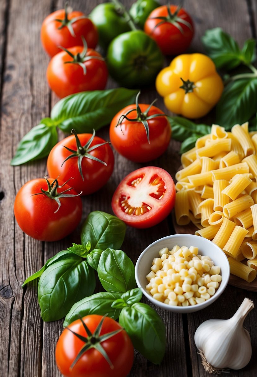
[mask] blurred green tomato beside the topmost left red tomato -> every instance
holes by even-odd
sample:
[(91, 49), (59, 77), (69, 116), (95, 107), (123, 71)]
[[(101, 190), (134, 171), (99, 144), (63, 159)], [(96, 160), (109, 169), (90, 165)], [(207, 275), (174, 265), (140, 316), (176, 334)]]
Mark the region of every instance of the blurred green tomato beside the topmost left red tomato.
[(130, 30), (121, 9), (113, 3), (103, 3), (89, 15), (99, 33), (99, 44), (106, 49), (117, 35)]

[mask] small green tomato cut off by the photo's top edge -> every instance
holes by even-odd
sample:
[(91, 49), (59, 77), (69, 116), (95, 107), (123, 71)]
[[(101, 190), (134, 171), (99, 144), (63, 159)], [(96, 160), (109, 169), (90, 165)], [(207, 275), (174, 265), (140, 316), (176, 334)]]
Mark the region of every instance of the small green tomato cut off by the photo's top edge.
[(132, 5), (129, 13), (136, 25), (138, 25), (139, 28), (144, 29), (144, 23), (148, 15), (155, 8), (158, 8), (158, 6), (160, 6), (160, 3), (155, 0), (138, 0)]

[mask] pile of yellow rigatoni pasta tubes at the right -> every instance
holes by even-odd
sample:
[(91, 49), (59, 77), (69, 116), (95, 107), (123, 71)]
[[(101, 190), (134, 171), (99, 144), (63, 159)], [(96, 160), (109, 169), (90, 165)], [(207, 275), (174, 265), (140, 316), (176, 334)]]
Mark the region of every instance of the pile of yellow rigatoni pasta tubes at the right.
[[(178, 225), (192, 221), (198, 236), (226, 253), (231, 273), (252, 282), (257, 272), (257, 133), (248, 123), (210, 135), (181, 156), (176, 174)], [(247, 265), (242, 263), (247, 259)]]

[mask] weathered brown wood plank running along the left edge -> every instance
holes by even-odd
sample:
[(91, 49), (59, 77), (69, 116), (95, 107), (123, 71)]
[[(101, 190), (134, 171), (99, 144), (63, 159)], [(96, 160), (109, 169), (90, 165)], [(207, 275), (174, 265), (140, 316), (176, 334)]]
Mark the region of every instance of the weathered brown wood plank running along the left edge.
[[(24, 278), (42, 264), (42, 243), (23, 232), (14, 221), (13, 203), (26, 181), (44, 175), (41, 163), (11, 167), (18, 142), (49, 112), (49, 89), (45, 80), (46, 57), (40, 47), (38, 26), (48, 14), (50, 0), (35, 6), (34, 0), (13, 0), (9, 9), (8, 46), (2, 93), (0, 240), (2, 258), (2, 323), (0, 375), (41, 375), (41, 320), (35, 289), (22, 289)], [(3, 3), (1, 3), (2, 9)], [(3, 50), (2, 50), (3, 51)], [(32, 352), (33, 350), (33, 352)]]

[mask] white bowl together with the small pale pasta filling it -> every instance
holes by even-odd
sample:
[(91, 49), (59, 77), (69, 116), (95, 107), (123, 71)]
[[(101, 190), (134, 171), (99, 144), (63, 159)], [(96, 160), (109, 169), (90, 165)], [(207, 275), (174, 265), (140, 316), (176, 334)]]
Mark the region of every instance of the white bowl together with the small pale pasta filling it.
[(230, 268), (226, 254), (194, 234), (173, 234), (149, 245), (136, 262), (138, 287), (155, 305), (192, 313), (211, 305), (225, 290)]

